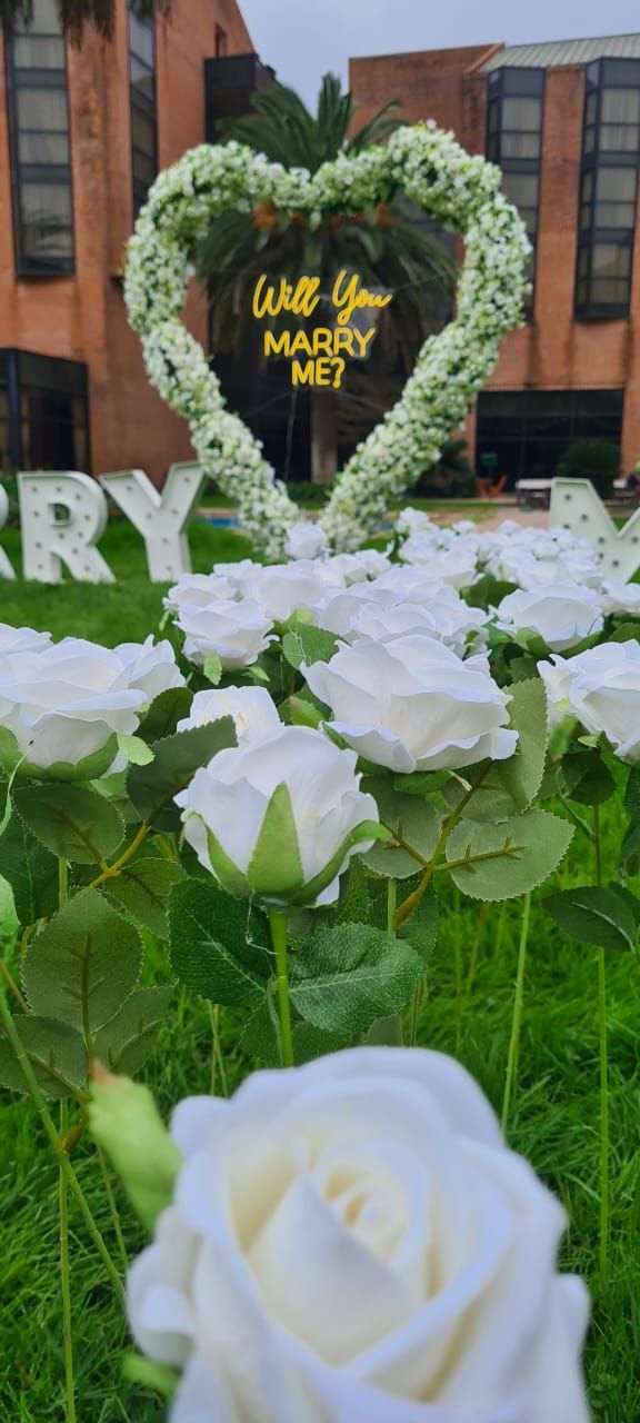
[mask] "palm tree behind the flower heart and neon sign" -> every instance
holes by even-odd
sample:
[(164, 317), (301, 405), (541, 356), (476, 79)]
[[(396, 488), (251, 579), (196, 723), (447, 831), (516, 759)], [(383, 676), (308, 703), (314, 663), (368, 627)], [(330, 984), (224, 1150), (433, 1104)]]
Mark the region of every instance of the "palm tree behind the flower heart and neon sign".
[[(287, 168), (316, 172), (340, 152), (357, 154), (370, 144), (388, 138), (400, 120), (398, 102), (391, 101), (357, 132), (351, 134), (356, 104), (343, 94), (340, 80), (326, 74), (316, 114), (311, 114), (294, 90), (273, 84), (255, 95), (255, 112), (223, 120), (219, 141), (238, 139)], [(374, 343), (377, 361), (384, 357), (387, 370), (398, 360), (405, 373), (424, 336), (434, 327), (437, 303), (451, 296), (455, 269), (439, 242), (412, 221), (410, 205), (397, 201), (390, 184), (375, 209), (354, 212), (336, 209), (327, 213), (320, 229), (311, 231), (300, 212), (279, 212), (273, 203), (260, 203), (252, 213), (225, 212), (213, 219), (201, 246), (198, 270), (206, 282), (212, 303), (212, 342), (215, 350), (239, 354), (252, 326), (252, 295), (259, 275), (319, 276), (320, 292), (329, 293), (334, 277), (346, 268), (357, 272), (370, 289), (394, 293), (381, 313)], [(317, 307), (319, 324), (329, 324), (327, 305)], [(277, 330), (292, 327), (273, 319)], [(404, 374), (402, 374), (404, 379)], [(398, 387), (402, 384), (398, 381)], [(294, 404), (296, 391), (292, 394)], [(357, 396), (354, 396), (357, 398)], [(331, 388), (311, 387), (311, 477), (330, 482), (337, 464), (338, 396)]]

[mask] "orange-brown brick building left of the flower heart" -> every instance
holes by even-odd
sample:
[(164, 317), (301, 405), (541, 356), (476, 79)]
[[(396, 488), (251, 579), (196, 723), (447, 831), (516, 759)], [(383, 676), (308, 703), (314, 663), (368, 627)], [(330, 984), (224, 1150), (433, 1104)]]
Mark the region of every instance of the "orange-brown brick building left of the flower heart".
[[(186, 425), (148, 384), (119, 272), (155, 174), (233, 111), (257, 64), (236, 0), (174, 0), (141, 23), (117, 0), (114, 40), (61, 37), (55, 0), (0, 55), (0, 470), (189, 458)], [(243, 55), (235, 60), (233, 55)], [(240, 70), (238, 71), (238, 65)], [(216, 75), (222, 83), (216, 105)], [(209, 121), (210, 128), (210, 121)], [(206, 343), (206, 303), (188, 310)]]

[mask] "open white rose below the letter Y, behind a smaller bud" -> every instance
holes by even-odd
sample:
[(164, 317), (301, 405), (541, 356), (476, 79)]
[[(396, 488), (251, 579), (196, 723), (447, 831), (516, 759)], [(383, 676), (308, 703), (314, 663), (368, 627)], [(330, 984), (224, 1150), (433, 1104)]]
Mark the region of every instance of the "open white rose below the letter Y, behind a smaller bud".
[(216, 653), (225, 670), (247, 667), (273, 642), (272, 619), (252, 598), (240, 603), (219, 602), (208, 608), (181, 608), (176, 619), (185, 633), (185, 657), (202, 666)]

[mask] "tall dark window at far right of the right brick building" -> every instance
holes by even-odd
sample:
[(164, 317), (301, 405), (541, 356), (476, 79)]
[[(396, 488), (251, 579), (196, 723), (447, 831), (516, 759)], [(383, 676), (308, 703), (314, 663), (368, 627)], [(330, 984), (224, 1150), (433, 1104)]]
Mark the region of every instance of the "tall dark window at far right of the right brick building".
[(627, 316), (633, 276), (640, 61), (599, 60), (586, 71), (576, 316)]

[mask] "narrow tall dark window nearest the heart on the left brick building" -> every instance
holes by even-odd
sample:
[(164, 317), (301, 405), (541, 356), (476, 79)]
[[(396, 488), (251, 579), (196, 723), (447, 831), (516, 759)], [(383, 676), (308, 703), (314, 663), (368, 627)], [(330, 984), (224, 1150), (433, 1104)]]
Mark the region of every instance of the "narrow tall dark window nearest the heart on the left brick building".
[(131, 169), (134, 218), (158, 174), (155, 24), (139, 20), (129, 0)]

